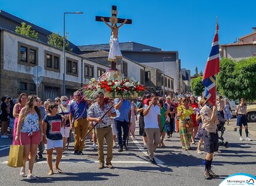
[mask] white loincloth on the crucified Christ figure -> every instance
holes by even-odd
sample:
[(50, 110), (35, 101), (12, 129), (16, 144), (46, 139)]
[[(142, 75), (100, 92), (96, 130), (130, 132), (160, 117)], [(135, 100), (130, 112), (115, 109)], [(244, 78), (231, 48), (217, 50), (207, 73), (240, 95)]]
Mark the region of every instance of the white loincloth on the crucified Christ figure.
[(113, 38), (113, 36), (111, 36), (109, 45), (110, 45), (110, 49), (109, 49), (109, 59), (108, 60), (110, 62), (112, 62), (115, 59), (122, 59), (123, 56), (120, 51), (118, 38)]

